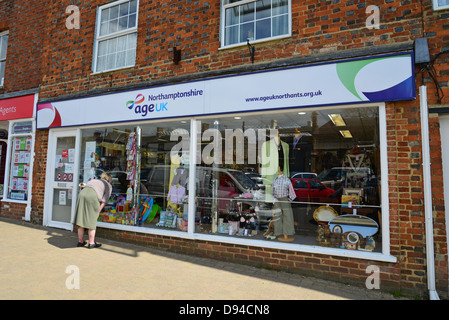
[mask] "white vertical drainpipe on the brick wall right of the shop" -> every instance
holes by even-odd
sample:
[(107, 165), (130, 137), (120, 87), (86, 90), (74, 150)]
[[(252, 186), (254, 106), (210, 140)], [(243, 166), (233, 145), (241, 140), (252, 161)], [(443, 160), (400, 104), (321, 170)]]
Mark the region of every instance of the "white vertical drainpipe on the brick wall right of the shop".
[(432, 214), (432, 183), (430, 175), (429, 149), (429, 113), (427, 109), (427, 87), (419, 87), (419, 102), (421, 111), (421, 144), (423, 158), (424, 185), (424, 215), (426, 228), (426, 256), (427, 256), (427, 286), (430, 300), (440, 300), (435, 290), (435, 259), (433, 247), (433, 214)]

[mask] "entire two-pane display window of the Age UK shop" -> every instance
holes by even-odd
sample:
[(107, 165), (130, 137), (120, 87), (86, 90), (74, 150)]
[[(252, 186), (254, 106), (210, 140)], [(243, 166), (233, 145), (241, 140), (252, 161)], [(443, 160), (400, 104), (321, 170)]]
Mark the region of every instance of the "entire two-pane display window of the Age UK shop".
[(89, 128), (80, 179), (112, 174), (102, 222), (382, 252), (379, 130), (377, 106)]

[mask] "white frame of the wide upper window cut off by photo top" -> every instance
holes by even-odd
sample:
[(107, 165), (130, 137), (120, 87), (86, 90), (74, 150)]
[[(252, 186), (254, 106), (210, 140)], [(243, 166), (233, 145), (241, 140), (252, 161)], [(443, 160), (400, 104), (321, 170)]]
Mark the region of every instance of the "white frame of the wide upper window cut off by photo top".
[[(274, 36), (274, 37), (267, 37), (267, 38), (257, 39), (257, 40), (253, 39), (253, 40), (250, 40), (251, 44), (291, 37), (291, 35), (292, 35), (292, 0), (287, 0), (287, 1), (288, 1), (288, 32), (287, 32), (287, 34)], [(220, 17), (221, 49), (247, 45), (246, 41), (225, 45), (226, 9), (245, 5), (245, 4), (252, 3), (252, 2), (257, 2), (257, 0), (241, 0), (241, 1), (235, 2), (235, 3), (228, 3), (228, 2), (229, 2), (229, 0), (221, 0), (221, 17)]]

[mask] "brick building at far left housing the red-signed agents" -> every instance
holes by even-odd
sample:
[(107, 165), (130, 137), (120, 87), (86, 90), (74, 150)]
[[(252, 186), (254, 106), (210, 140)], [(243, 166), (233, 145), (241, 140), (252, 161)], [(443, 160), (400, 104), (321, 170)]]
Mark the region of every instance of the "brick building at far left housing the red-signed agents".
[[(21, 167), (21, 190), (3, 197), (1, 215), (16, 219), (31, 216), (31, 188), (33, 148), (35, 134), (35, 109), (39, 85), (42, 80), (42, 39), (45, 15), (44, 4), (33, 1), (0, 1), (0, 181), (1, 194), (13, 184), (14, 142), (24, 141), (22, 151), (25, 162)], [(18, 160), (18, 159), (17, 159)], [(24, 160), (24, 159), (22, 159)], [(15, 164), (19, 164), (18, 162)], [(23, 169), (25, 168), (25, 174)]]

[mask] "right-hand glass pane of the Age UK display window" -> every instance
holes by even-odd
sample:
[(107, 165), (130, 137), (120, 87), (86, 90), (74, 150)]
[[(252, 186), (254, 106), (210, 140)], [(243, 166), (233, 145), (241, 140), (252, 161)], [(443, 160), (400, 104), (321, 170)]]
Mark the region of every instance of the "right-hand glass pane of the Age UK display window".
[(195, 232), (380, 252), (378, 119), (377, 107), (201, 119)]

